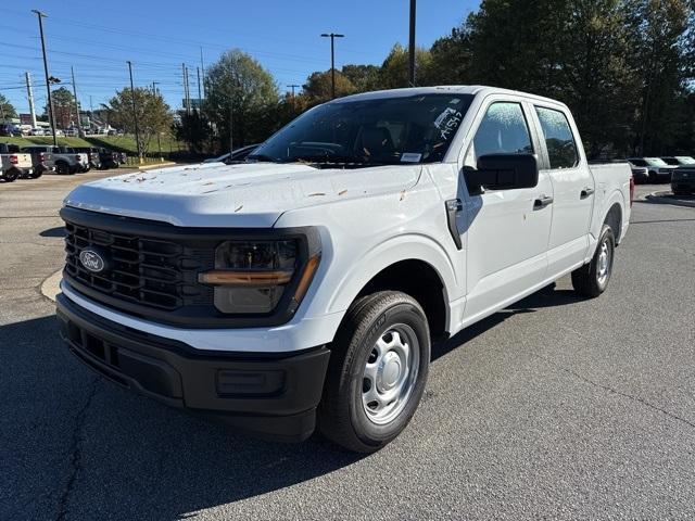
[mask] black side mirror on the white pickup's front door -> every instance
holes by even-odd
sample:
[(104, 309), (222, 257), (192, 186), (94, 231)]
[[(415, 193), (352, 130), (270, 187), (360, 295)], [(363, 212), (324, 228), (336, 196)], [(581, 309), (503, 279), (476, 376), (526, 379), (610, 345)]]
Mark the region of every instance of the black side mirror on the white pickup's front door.
[(478, 157), (477, 169), (464, 170), (470, 194), (491, 190), (518, 190), (539, 183), (539, 164), (533, 154), (488, 154)]

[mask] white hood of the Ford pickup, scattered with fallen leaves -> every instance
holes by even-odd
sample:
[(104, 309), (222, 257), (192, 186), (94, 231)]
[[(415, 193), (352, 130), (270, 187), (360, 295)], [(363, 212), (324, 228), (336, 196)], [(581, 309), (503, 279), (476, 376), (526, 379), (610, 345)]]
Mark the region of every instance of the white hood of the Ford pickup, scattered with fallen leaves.
[(64, 203), (175, 226), (271, 227), (285, 212), (413, 187), (420, 165), (315, 168), (219, 163), (160, 168), (88, 182)]

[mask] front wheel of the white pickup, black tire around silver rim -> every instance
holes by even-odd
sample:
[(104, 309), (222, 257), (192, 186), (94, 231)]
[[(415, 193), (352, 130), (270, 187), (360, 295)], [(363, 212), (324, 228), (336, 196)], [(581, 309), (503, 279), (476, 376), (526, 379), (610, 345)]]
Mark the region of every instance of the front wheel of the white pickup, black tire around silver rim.
[[(405, 339), (401, 345), (407, 346), (409, 358), (400, 357), (397, 363), (377, 364), (377, 341), (388, 338), (393, 343), (389, 345), (396, 345), (396, 339)], [(318, 407), (319, 431), (332, 442), (357, 453), (372, 453), (394, 440), (408, 424), (420, 403), (427, 382), (430, 351), (427, 317), (415, 298), (396, 291), (382, 291), (355, 301), (331, 344), (324, 396)], [(379, 357), (393, 360), (399, 356), (394, 355), (395, 352), (388, 351), (384, 354), (382, 351)], [(389, 355), (392, 357), (388, 358)], [(378, 418), (381, 412), (366, 403), (369, 395), (363, 399), (363, 393), (367, 393), (371, 385), (375, 392), (380, 393), (377, 382), (366, 376), (368, 360), (372, 360), (371, 367), (379, 368), (375, 373), (381, 371), (380, 384), (389, 385), (386, 380), (395, 378), (386, 393), (394, 390), (399, 397), (381, 411), (391, 411), (392, 418), (388, 414), (386, 418)], [(407, 372), (402, 372), (405, 360), (412, 367)], [(388, 377), (388, 367), (397, 367), (396, 374), (391, 371)], [(367, 383), (369, 386), (365, 387)]]

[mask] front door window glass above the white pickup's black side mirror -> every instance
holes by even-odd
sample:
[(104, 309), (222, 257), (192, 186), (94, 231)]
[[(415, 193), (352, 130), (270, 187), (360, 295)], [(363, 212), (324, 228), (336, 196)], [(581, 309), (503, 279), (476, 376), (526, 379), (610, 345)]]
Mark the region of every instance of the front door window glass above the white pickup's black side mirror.
[(485, 154), (532, 154), (531, 135), (521, 105), (511, 102), (491, 104), (472, 144), (476, 160)]

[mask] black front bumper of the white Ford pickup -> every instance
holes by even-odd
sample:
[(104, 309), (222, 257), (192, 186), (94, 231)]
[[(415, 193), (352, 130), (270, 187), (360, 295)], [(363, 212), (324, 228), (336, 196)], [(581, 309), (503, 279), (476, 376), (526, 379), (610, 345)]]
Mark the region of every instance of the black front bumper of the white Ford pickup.
[(71, 352), (121, 386), (265, 439), (298, 442), (314, 431), (326, 347), (270, 356), (233, 346), (203, 352), (103, 319), (63, 294), (56, 306)]

